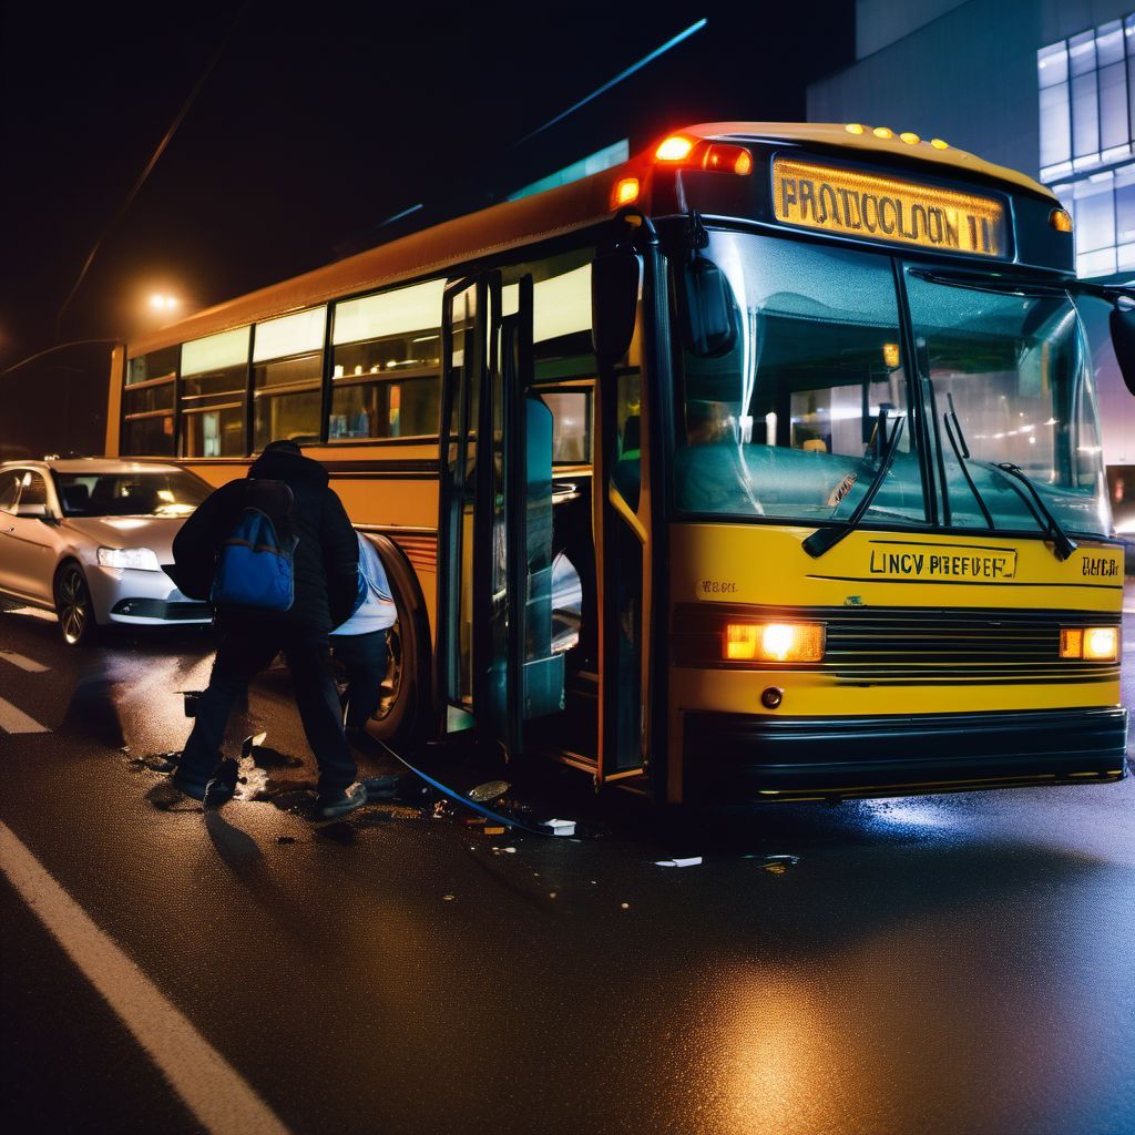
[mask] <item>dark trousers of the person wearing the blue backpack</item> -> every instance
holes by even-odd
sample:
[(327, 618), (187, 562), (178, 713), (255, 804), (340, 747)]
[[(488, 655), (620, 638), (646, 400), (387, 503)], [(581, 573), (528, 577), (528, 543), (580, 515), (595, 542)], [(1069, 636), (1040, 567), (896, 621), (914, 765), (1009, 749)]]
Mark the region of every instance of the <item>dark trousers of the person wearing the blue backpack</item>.
[(232, 621), (221, 629), (209, 688), (197, 699), (193, 732), (185, 742), (177, 777), (204, 783), (221, 760), (225, 726), (249, 682), (283, 650), (308, 745), (319, 765), (319, 792), (331, 796), (353, 783), (354, 758), (343, 735), (343, 715), (331, 674), (327, 632), (311, 627)]

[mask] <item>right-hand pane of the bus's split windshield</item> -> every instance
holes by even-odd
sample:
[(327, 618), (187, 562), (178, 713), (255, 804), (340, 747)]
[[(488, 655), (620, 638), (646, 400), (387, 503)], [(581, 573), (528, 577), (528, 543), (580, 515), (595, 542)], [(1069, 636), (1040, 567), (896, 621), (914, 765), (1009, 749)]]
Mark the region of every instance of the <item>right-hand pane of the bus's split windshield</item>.
[(1027, 477), (1061, 527), (1105, 536), (1095, 389), (1067, 294), (907, 269), (919, 369), (930, 380), (948, 508), (958, 528), (1040, 523)]

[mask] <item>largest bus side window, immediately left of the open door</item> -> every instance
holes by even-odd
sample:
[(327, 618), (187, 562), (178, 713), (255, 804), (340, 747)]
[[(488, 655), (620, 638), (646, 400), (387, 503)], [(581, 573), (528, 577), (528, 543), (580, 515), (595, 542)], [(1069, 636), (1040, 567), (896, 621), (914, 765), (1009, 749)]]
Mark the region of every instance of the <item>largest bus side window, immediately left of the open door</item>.
[(444, 280), (335, 305), (331, 442), (437, 437)]

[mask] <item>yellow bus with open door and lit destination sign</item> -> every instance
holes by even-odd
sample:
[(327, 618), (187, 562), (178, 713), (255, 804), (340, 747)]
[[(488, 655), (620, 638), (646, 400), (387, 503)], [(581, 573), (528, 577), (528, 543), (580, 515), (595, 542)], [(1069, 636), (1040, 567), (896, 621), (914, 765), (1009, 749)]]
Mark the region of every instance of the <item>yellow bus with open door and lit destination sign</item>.
[(716, 123), (115, 352), (111, 455), (292, 438), (398, 607), (371, 723), (654, 799), (1115, 781), (1071, 221), (885, 127)]

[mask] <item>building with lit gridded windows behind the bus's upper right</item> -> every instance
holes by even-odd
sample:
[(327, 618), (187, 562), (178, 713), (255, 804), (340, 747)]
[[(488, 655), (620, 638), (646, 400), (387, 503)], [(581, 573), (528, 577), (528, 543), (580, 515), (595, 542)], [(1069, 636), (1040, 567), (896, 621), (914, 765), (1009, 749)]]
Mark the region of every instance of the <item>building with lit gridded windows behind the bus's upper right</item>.
[[(857, 0), (856, 62), (810, 84), (807, 107), (810, 121), (942, 137), (1036, 177), (1073, 215), (1078, 275), (1135, 279), (1135, 0)], [(1121, 480), (1135, 400), (1099, 306), (1104, 461)]]

